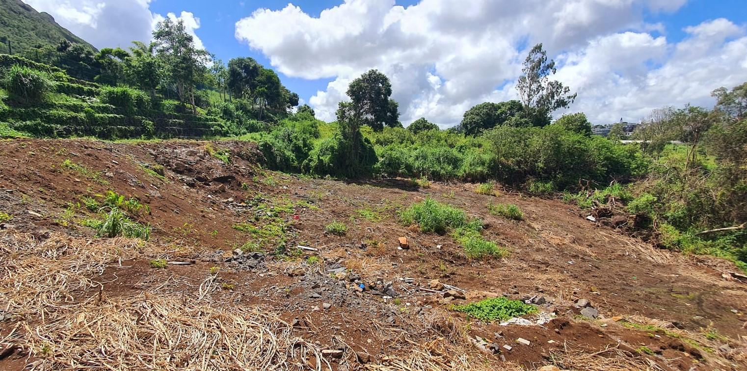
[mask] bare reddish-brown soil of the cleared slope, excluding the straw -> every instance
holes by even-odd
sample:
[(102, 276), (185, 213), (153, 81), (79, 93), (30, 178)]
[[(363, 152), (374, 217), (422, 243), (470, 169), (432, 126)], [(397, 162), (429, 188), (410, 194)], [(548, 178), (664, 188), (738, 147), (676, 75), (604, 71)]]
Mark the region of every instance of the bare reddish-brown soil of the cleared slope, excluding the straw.
[[(211, 155), (215, 149), (230, 151), (229, 164)], [(93, 277), (101, 286), (75, 292), (76, 300), (141, 292), (186, 295), (196, 292), (217, 267), (217, 301), (270, 308), (285, 321), (297, 319), (306, 340), (325, 349), (342, 340), (356, 352), (371, 355), (372, 364), (385, 364), (387, 358), (412, 349), (411, 338), (430, 339), (433, 329), (424, 328), (423, 319), (438, 313), (456, 320), (463, 332), (460, 341), (469, 352), (480, 354), (480, 349), (467, 337), (509, 345), (510, 351), (480, 354), (497, 365), (508, 362), (534, 370), (555, 364), (584, 370), (558, 356), (577, 349), (597, 358), (645, 364), (649, 370), (747, 370), (747, 284), (723, 278), (737, 271), (731, 263), (654, 249), (598, 227), (579, 216), (583, 212), (574, 206), (509, 188), (485, 195), (464, 183), (433, 182), (430, 188), (418, 188), (409, 180), (311, 179), (263, 170), (260, 156), (252, 144), (240, 141), (3, 141), (0, 211), (13, 219), (0, 224), (0, 232), (32, 233), (41, 240), (65, 233), (95, 241), (95, 231), (80, 221), (97, 215), (81, 206), (81, 197), (109, 190), (137, 197), (151, 210), (137, 221), (152, 225), (151, 243), (167, 246), (168, 252), (113, 262)], [(90, 172), (66, 168), (65, 160)], [(164, 166), (164, 179), (143, 170), (153, 165)], [(450, 236), (421, 233), (400, 223), (397, 212), (426, 197), (482, 218), (486, 238), (507, 248), (509, 256), (469, 260)], [(513, 203), (525, 219), (491, 215), (489, 203)], [(273, 205), (290, 209), (265, 218), (263, 213), (273, 212)], [(264, 228), (279, 221), (287, 226), (281, 233), (285, 244), (273, 240), (278, 236), (235, 228)], [(347, 233), (326, 233), (332, 221), (347, 224)], [(408, 239), (409, 249), (397, 248), (400, 236)], [(246, 242), (255, 242), (264, 252), (258, 266), (225, 261)], [(279, 255), (278, 245), (290, 249)], [(317, 251), (297, 251), (297, 245)], [(312, 256), (319, 263), (309, 260)], [(155, 269), (149, 265), (155, 258), (188, 264)], [(335, 278), (329, 269), (336, 265), (359, 275), (366, 291), (356, 290), (358, 283)], [(434, 279), (464, 290), (467, 299), (444, 301), (443, 294), (421, 289), (428, 289)], [(397, 297), (372, 295), (371, 286), (381, 286), (377, 281), (391, 282)], [(557, 318), (543, 325), (500, 325), (450, 310), (451, 304), (496, 295), (551, 298), (553, 303), (542, 311)], [(579, 315), (580, 308), (574, 306), (579, 298), (591, 301), (598, 319)], [(324, 304), (331, 305), (324, 309)], [(0, 322), (0, 337), (17, 321), (33, 324), (43, 319)], [(530, 345), (517, 343), (520, 337)], [(728, 351), (719, 349), (725, 344)], [(0, 354), (0, 369), (22, 370), (40, 357), (28, 349), (11, 350)]]

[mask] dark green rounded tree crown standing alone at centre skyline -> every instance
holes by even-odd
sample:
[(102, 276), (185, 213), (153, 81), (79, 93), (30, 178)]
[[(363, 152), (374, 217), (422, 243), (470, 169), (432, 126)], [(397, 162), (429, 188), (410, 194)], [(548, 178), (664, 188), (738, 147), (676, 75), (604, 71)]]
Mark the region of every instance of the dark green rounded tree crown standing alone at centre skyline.
[(385, 125), (401, 125), (397, 102), (389, 98), (391, 82), (378, 70), (369, 70), (353, 80), (347, 88), (347, 96), (350, 96), (350, 105), (344, 107), (344, 111), (356, 125), (368, 125), (375, 131), (381, 131)]

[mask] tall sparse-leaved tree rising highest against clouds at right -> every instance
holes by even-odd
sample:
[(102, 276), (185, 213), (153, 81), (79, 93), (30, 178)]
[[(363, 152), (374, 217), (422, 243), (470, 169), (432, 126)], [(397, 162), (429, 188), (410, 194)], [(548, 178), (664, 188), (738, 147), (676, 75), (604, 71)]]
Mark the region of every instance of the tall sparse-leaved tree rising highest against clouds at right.
[(576, 93), (571, 94), (571, 89), (550, 79), (556, 71), (555, 61), (548, 60), (542, 43), (535, 45), (524, 60), (516, 89), (524, 104), (524, 117), (533, 126), (548, 125), (553, 111), (568, 108), (576, 99)]

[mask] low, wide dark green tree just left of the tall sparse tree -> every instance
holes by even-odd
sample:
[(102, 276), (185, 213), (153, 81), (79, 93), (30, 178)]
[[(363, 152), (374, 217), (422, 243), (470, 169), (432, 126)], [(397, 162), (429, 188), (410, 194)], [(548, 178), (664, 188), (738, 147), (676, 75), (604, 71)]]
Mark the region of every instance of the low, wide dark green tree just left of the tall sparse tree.
[(460, 129), (465, 134), (477, 135), (495, 126), (529, 126), (523, 112), (524, 106), (518, 100), (480, 103), (465, 112)]

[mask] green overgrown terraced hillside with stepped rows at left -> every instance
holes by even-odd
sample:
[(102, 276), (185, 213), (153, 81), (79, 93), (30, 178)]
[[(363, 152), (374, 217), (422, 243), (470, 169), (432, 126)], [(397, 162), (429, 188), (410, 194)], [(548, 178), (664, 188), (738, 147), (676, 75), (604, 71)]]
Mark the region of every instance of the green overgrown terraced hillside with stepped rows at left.
[(179, 104), (169, 100), (135, 108), (108, 104), (97, 98), (102, 85), (74, 79), (57, 67), (0, 54), (0, 70), (13, 65), (48, 73), (55, 88), (49, 99), (31, 104), (7, 99), (0, 90), (0, 123), (17, 132), (52, 138), (202, 138), (226, 133), (225, 120), (202, 110), (180, 111)]

